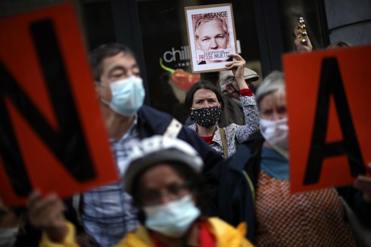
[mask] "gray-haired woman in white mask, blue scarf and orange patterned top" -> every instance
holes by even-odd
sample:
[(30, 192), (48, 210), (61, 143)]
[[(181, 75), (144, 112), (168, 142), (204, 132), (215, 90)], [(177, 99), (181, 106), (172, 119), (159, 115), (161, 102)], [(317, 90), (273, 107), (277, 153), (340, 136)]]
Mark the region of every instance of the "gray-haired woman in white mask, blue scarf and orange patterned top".
[[(371, 227), (371, 178), (361, 176), (338, 192), (326, 188), (291, 194), (283, 73), (274, 71), (263, 80), (256, 102), (263, 138), (240, 144), (221, 167), (219, 217), (231, 224), (247, 221), (248, 237), (256, 246), (356, 246), (339, 194)], [(246, 175), (244, 187), (233, 175), (236, 171)], [(220, 203), (220, 198), (229, 198), (229, 203)]]

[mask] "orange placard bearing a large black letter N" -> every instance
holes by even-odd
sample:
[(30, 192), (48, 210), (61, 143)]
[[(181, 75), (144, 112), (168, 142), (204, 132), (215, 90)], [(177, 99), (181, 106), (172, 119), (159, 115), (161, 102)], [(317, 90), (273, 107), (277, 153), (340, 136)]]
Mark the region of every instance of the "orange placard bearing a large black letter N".
[(0, 197), (117, 180), (72, 4), (0, 19)]

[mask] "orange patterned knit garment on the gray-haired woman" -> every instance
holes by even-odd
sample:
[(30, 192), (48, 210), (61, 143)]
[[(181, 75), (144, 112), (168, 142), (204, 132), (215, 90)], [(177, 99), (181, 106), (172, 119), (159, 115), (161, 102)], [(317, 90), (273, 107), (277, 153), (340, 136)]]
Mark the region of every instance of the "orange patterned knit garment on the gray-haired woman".
[(356, 246), (332, 189), (291, 195), (289, 180), (261, 170), (255, 212), (256, 246)]

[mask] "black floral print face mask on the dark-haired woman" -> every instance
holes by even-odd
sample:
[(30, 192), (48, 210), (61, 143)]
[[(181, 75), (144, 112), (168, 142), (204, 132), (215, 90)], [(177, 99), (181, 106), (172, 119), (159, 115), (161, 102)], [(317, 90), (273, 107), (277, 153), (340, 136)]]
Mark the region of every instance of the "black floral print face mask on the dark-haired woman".
[(191, 118), (202, 127), (214, 126), (220, 118), (221, 107), (205, 107), (200, 109), (191, 108)]

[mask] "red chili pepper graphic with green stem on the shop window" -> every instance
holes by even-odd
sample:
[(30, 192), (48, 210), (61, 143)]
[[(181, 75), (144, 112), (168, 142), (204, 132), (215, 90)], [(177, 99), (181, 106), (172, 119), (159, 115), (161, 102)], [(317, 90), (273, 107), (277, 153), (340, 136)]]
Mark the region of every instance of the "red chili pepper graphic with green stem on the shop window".
[(200, 75), (194, 75), (181, 69), (174, 70), (164, 66), (162, 59), (160, 59), (160, 66), (162, 69), (171, 73), (171, 80), (181, 90), (188, 91), (196, 81), (200, 80)]

